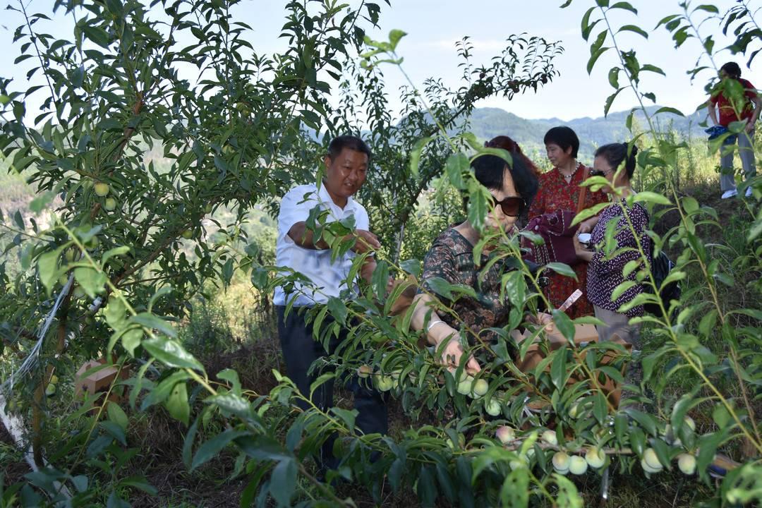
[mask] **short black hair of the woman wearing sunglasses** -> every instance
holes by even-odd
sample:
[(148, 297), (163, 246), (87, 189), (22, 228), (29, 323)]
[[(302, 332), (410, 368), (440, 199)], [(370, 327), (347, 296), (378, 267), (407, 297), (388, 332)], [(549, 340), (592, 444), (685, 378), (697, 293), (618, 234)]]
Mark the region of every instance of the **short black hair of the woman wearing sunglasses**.
[(526, 209), (532, 204), (534, 195), (537, 193), (537, 177), (532, 170), (524, 163), (519, 152), (509, 152), (513, 163), (508, 165), (504, 159), (497, 155), (479, 155), (471, 163), (474, 175), (479, 184), (490, 190), (503, 190), (503, 175), (505, 171), (511, 173), (514, 181), (514, 187), (519, 196), (523, 198), (524, 204), (519, 210), (519, 215), (523, 215)]

